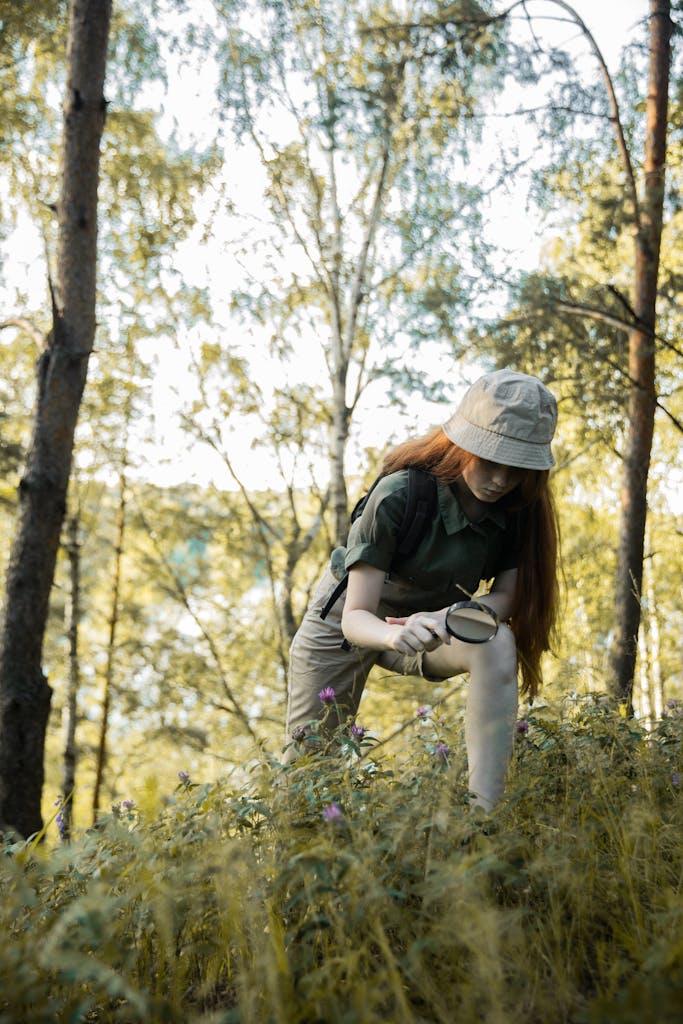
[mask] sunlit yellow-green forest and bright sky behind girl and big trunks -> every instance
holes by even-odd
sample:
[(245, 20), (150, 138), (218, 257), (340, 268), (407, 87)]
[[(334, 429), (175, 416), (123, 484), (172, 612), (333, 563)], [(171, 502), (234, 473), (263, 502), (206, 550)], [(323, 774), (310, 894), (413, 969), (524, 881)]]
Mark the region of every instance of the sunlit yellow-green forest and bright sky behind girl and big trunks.
[[(179, 772), (239, 783), (278, 756), (289, 642), (349, 503), (392, 439), (497, 366), (539, 374), (560, 402), (565, 604), (545, 693), (608, 689), (633, 211), (590, 10), (582, 31), (566, 4), (514, 6), (460, 31), (452, 7), (486, 6), (115, 5), (97, 332), (42, 655), (47, 817), (72, 790), (86, 825), (123, 799), (163, 803)], [(629, 12), (610, 78), (640, 167), (647, 4), (603, 6)], [(50, 331), (68, 11), (0, 10), (7, 562)], [(683, 695), (677, 41), (645, 723)], [(457, 686), (377, 679), (360, 721), (386, 736), (446, 689), (457, 709)]]

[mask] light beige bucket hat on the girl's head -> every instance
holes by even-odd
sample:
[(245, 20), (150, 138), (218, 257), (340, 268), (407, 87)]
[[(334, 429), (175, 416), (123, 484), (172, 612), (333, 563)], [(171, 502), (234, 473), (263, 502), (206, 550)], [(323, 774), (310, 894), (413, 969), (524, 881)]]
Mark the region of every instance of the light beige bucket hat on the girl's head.
[(497, 370), (472, 384), (442, 429), (454, 444), (480, 459), (550, 469), (556, 424), (557, 402), (545, 384), (528, 374)]

